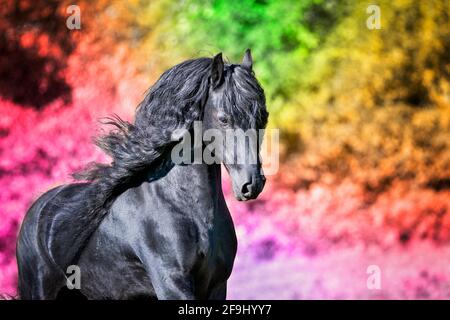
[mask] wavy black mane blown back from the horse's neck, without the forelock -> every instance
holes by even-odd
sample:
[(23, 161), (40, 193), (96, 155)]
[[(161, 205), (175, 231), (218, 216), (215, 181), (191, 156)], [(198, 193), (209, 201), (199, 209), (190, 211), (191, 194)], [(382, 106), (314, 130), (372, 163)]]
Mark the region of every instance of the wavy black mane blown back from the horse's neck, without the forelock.
[(115, 130), (95, 143), (111, 156), (111, 164), (91, 164), (74, 177), (109, 189), (149, 167), (173, 142), (174, 130), (188, 129), (200, 119), (211, 63), (211, 58), (188, 60), (164, 72), (139, 104), (134, 124), (118, 116), (107, 118), (103, 123)]

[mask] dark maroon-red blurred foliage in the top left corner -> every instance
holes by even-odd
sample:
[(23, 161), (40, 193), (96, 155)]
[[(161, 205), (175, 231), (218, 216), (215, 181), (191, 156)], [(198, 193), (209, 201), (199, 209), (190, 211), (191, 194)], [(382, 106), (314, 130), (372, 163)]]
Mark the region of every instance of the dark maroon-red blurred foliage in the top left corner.
[(74, 43), (63, 14), (60, 1), (2, 1), (0, 96), (36, 108), (70, 100), (63, 73)]

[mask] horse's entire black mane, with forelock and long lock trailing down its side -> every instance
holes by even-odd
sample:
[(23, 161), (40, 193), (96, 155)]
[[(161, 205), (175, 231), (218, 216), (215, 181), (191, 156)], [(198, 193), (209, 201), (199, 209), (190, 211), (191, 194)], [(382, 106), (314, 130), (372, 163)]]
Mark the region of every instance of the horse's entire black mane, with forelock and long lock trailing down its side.
[[(57, 264), (66, 267), (76, 259), (114, 199), (173, 145), (174, 130), (190, 129), (194, 121), (201, 120), (210, 90), (212, 64), (212, 58), (199, 58), (164, 72), (139, 104), (134, 124), (117, 116), (108, 118), (106, 123), (115, 130), (97, 139), (96, 144), (112, 161), (90, 165), (84, 172), (74, 175), (88, 181), (88, 187), (78, 200), (64, 203), (66, 214), (83, 213), (70, 231), (73, 239), (69, 252), (66, 251), (64, 257), (52, 257)], [(240, 121), (241, 128), (265, 127), (268, 113), (264, 91), (251, 70), (226, 64), (221, 85), (220, 105)], [(58, 237), (50, 235), (50, 238), (52, 236)], [(44, 239), (43, 242), (47, 243)]]

